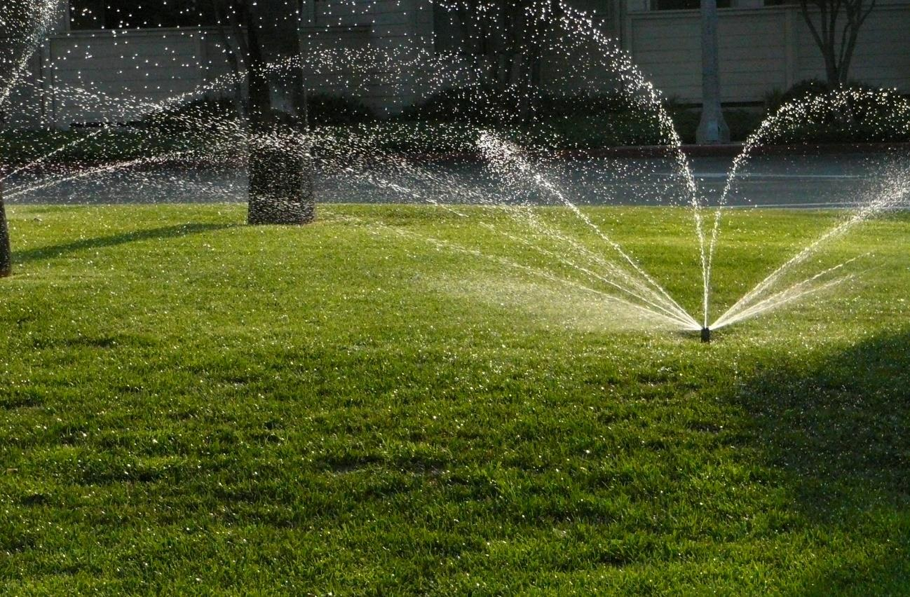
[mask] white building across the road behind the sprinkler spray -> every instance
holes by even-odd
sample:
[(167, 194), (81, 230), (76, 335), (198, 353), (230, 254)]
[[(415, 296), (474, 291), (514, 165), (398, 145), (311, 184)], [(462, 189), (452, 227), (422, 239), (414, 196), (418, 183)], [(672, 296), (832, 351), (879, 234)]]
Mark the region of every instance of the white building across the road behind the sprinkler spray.
[[(130, 2), (140, 10), (131, 11)], [(759, 103), (773, 89), (824, 77), (821, 54), (799, 5), (780, 2), (719, 3), (724, 102)], [(119, 0), (119, 8), (111, 8), (115, 4), (105, 0), (68, 0), (68, 4), (70, 9), (33, 60), (32, 86), (25, 86), (15, 97), (10, 111), (16, 124), (69, 126), (110, 119), (106, 115), (112, 113), (111, 106), (116, 107), (117, 119), (129, 120), (141, 114), (143, 104), (192, 93), (231, 71), (218, 27), (160, 26), (179, 23), (144, 19), (140, 0)], [(569, 0), (569, 4), (594, 15), (597, 26), (618, 40), (666, 96), (685, 103), (701, 101), (697, 0)], [(431, 53), (446, 46), (451, 35), (450, 25), (431, 0), (308, 0), (305, 6), (301, 33), (312, 49), (397, 47)], [(124, 15), (132, 15), (133, 24), (146, 26), (117, 28)], [(910, 93), (907, 32), (910, 0), (878, 0), (860, 32), (852, 78)], [(344, 94), (349, 76), (334, 75), (311, 77), (310, 86)], [(420, 96), (420, 73), (395, 86), (381, 73), (375, 75), (359, 75), (358, 96), (376, 108), (394, 111)], [(112, 99), (100, 109), (79, 96), (57, 92), (60, 88), (82, 88)]]

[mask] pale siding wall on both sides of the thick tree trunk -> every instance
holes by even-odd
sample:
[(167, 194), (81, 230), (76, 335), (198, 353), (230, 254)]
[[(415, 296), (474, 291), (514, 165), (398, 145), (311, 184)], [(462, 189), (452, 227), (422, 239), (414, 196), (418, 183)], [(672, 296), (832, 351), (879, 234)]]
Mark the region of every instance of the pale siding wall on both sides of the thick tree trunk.
[[(304, 56), (318, 58), (339, 49), (376, 54), (432, 49), (429, 0), (328, 0), (308, 3), (301, 30)], [(140, 117), (143, 103), (192, 96), (229, 72), (217, 29), (74, 31), (47, 43), (49, 87), (86, 89), (100, 99), (56, 94), (54, 122), (124, 121)], [(365, 69), (348, 56), (327, 68), (305, 69), (311, 91), (357, 96), (379, 110), (396, 111), (420, 95), (424, 73), (395, 64)], [(219, 86), (215, 95), (227, 95)], [(54, 94), (52, 94), (54, 95)], [(196, 94), (201, 95), (201, 94)], [(109, 98), (109, 99), (108, 99)], [(126, 102), (118, 101), (126, 98)]]

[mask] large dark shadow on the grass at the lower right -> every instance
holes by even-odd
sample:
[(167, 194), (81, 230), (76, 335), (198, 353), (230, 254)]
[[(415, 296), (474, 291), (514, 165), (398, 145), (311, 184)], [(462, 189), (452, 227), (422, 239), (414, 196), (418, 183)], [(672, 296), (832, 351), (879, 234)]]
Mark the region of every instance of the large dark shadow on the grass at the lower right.
[(845, 562), (866, 541), (887, 545), (855, 556), (861, 565), (811, 572), (811, 592), (907, 594), (910, 333), (759, 371), (735, 400), (752, 415), (767, 464), (784, 472), (796, 511), (856, 540), (842, 548)]

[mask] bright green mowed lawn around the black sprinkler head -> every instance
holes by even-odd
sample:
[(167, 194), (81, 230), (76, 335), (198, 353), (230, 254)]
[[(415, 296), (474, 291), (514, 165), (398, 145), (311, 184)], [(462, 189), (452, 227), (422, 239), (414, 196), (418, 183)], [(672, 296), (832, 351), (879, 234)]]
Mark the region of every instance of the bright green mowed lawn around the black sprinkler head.
[[(0, 592), (910, 592), (908, 215), (706, 346), (465, 209), (10, 209)], [(587, 211), (697, 310), (684, 212)], [(838, 218), (731, 212), (713, 315)]]

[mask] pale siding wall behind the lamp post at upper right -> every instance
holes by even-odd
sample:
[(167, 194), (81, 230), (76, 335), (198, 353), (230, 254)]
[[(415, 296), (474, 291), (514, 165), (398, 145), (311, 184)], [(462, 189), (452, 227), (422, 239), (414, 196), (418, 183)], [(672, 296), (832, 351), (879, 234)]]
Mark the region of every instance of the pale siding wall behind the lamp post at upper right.
[[(724, 102), (755, 102), (773, 89), (824, 79), (824, 62), (796, 6), (721, 9), (718, 37)], [(626, 16), (623, 46), (668, 97), (700, 102), (698, 11)], [(877, 5), (860, 30), (850, 76), (910, 93), (910, 3)]]

